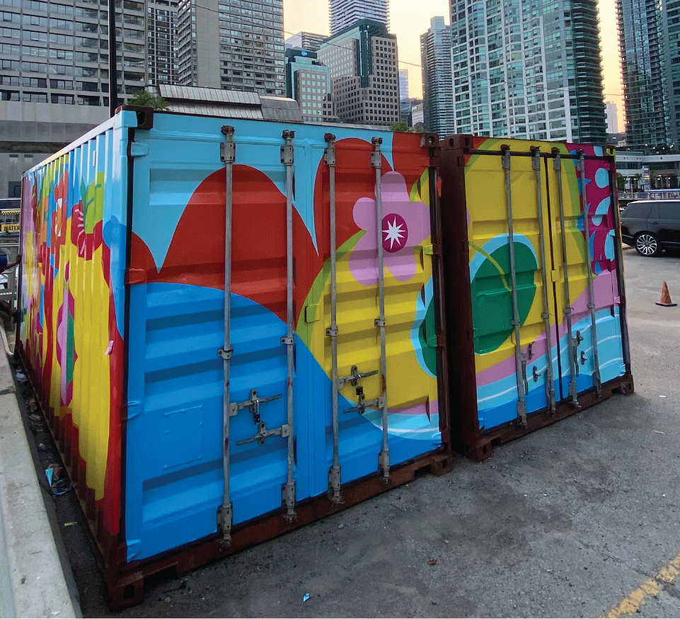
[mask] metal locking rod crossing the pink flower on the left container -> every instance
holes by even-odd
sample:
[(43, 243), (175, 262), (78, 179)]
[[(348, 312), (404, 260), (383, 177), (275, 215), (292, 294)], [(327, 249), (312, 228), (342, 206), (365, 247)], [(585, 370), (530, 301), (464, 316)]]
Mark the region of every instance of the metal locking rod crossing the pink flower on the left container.
[(375, 324), (380, 329), (380, 370), (382, 374), (382, 411), (383, 411), (383, 448), (378, 455), (379, 470), (383, 475), (383, 483), (390, 479), (390, 447), (387, 433), (387, 353), (385, 348), (385, 264), (383, 256), (383, 198), (382, 198), (382, 153), (381, 137), (374, 137), (374, 152), (371, 153), (371, 166), (376, 170), (376, 232), (378, 234), (378, 289), (380, 297), (379, 317)]

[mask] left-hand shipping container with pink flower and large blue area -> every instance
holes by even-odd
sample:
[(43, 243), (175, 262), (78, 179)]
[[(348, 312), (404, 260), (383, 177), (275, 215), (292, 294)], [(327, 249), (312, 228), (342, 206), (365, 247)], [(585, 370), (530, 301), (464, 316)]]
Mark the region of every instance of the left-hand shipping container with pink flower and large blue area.
[(17, 346), (112, 608), (451, 469), (438, 153), (122, 108), (25, 173)]

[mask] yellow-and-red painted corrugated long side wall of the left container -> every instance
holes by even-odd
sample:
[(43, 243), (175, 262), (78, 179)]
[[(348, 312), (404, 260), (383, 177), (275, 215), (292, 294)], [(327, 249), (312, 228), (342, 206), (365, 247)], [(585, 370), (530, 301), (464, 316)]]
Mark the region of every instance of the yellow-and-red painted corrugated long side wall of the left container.
[(96, 535), (120, 533), (124, 112), (25, 173), (18, 348)]

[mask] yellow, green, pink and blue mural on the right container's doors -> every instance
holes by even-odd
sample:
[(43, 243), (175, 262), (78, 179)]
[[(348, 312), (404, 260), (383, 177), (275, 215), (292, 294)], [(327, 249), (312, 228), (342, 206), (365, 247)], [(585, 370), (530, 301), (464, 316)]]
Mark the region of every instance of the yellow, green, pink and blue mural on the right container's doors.
[[(503, 140), (507, 142), (507, 140)], [(500, 140), (476, 138), (476, 149), (498, 150)], [(529, 142), (511, 141), (513, 151), (529, 152)], [(601, 147), (554, 144), (563, 154), (583, 149), (586, 155), (603, 155)], [(548, 150), (553, 144), (541, 144)], [(552, 166), (552, 160), (548, 159)], [(618, 316), (618, 284), (614, 259), (614, 223), (609, 191), (609, 164), (587, 159), (584, 183), (576, 162), (563, 159), (563, 197), (567, 266), (572, 307), (572, 336), (580, 340), (579, 392), (593, 387), (592, 319), (588, 305), (587, 254), (592, 251), (592, 273), (597, 316), (597, 339), (601, 381), (623, 375), (621, 323)], [(543, 322), (541, 249), (538, 234), (536, 175), (531, 157), (514, 157), (511, 164), (514, 215), (514, 251), (517, 264), (517, 302), (521, 324), (521, 351), (526, 358), (526, 410), (548, 407), (546, 368), (553, 366), (555, 397), (567, 397), (571, 380), (568, 354), (569, 334), (565, 322), (565, 287), (560, 242), (558, 188), (553, 169), (548, 168), (542, 187), (546, 226), (548, 314), (552, 350), (548, 358)], [(542, 173), (543, 174), (543, 173)], [(509, 236), (505, 172), (500, 157), (473, 156), (467, 161), (468, 239), (477, 365), (478, 416), (480, 428), (493, 428), (517, 419), (517, 361), (512, 324)], [(589, 239), (585, 238), (582, 193), (586, 191)], [(548, 206), (548, 195), (551, 200)], [(482, 197), (483, 196), (483, 197)], [(552, 242), (551, 242), (552, 241)], [(552, 284), (555, 283), (553, 286)], [(521, 370), (519, 370), (521, 371)], [(526, 377), (526, 382), (524, 378)]]

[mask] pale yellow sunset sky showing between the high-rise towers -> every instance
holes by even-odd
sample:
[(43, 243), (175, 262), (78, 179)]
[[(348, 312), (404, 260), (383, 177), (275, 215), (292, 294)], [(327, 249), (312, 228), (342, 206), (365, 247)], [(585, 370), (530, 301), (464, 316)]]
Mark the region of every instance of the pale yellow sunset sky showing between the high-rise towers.
[[(286, 38), (300, 30), (325, 35), (330, 33), (327, 0), (284, 0), (283, 4)], [(622, 131), (616, 0), (598, 0), (598, 4), (604, 62), (604, 99), (618, 106), (619, 130)], [(390, 30), (397, 35), (399, 68), (408, 69), (408, 89), (412, 97), (422, 96), (420, 35), (430, 28), (430, 18), (434, 16), (444, 16), (446, 23), (449, 23), (449, 0), (390, 0)]]

